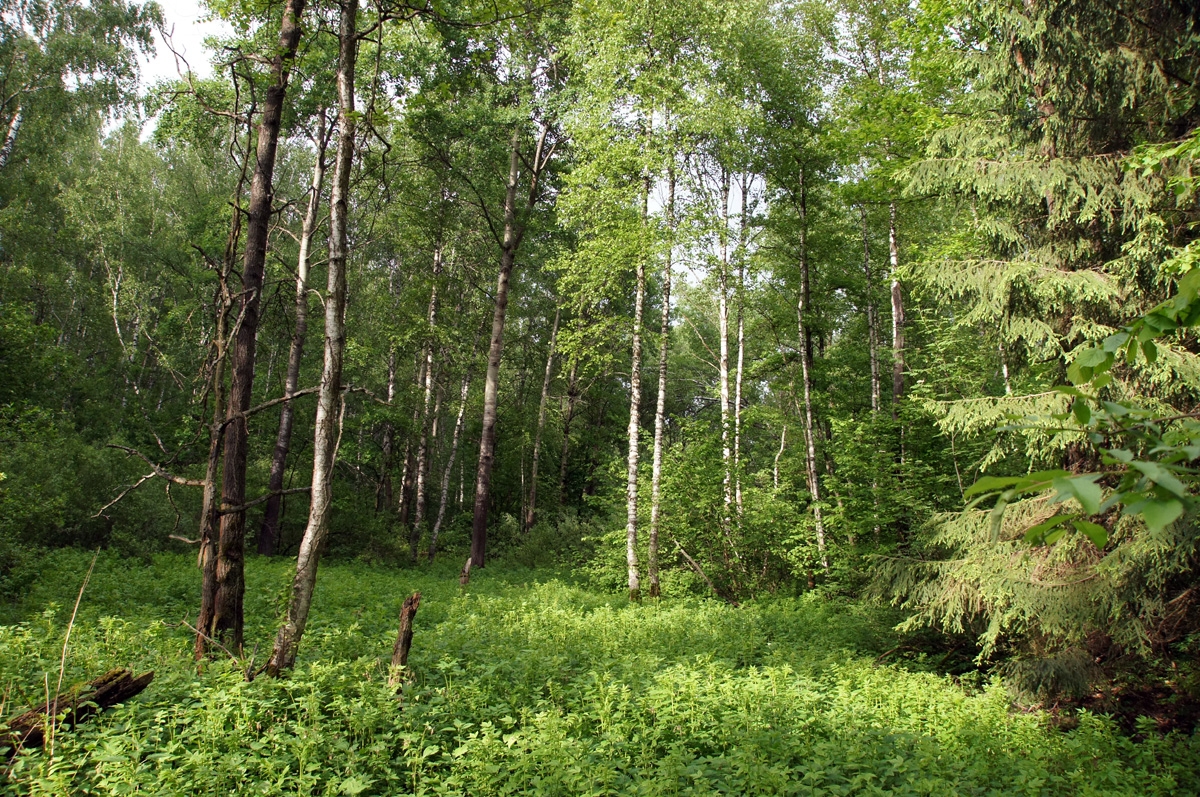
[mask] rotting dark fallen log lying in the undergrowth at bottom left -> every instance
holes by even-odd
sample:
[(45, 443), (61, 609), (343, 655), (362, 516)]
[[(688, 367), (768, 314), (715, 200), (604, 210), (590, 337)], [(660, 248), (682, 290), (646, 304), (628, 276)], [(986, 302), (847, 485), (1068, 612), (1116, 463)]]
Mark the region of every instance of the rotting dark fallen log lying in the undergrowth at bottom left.
[(0, 724), (0, 747), (7, 747), (8, 755), (13, 755), (22, 747), (41, 745), (46, 742), (48, 721), (59, 727), (74, 727), (89, 717), (139, 694), (151, 681), (152, 671), (133, 677), (131, 671), (122, 667), (109, 670), (95, 681), (74, 687), (56, 699)]

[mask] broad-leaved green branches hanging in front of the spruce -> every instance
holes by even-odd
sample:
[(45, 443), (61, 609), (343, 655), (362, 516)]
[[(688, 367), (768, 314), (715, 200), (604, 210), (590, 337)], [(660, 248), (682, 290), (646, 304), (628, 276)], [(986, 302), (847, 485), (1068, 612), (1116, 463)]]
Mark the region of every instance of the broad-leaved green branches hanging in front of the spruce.
[[(1181, 205), (1195, 203), (1200, 163), (1200, 131), (1182, 142), (1139, 148), (1126, 161), (1128, 169), (1165, 172), (1166, 184)], [(1134, 367), (1140, 360), (1153, 365), (1168, 336), (1182, 336), (1200, 325), (1200, 240), (1176, 248), (1162, 266), (1177, 277), (1176, 293), (1133, 323), (1103, 341), (1082, 347), (1067, 368), (1070, 385), (1055, 390), (1073, 398), (1067, 412), (1032, 419), (1043, 427), (1079, 435), (1094, 450), (1100, 467), (1091, 473), (1039, 471), (1021, 477), (984, 477), (965, 497), (977, 507), (995, 498), (992, 537), (998, 538), (1004, 510), (1014, 501), (1054, 492), (1051, 504), (1064, 504), (1051, 517), (1030, 527), (1025, 539), (1033, 545), (1056, 543), (1075, 531), (1098, 549), (1109, 540), (1105, 526), (1096, 522), (1112, 513), (1138, 517), (1152, 534), (1162, 533), (1200, 498), (1200, 411), (1164, 414), (1136, 397), (1106, 398), (1112, 370), (1118, 364)], [(1026, 419), (1025, 423), (1030, 423)], [(1079, 509), (1066, 502), (1075, 499)], [(1111, 523), (1110, 523), (1111, 526)]]

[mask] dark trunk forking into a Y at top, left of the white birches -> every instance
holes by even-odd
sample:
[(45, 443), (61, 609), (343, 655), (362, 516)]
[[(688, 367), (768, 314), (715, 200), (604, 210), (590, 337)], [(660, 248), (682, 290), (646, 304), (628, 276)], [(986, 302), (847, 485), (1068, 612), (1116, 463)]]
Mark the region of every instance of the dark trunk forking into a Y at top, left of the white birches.
[[(544, 127), (529, 161), (529, 197), (526, 211), (538, 202), (539, 176), (553, 148), (542, 154), (548, 127)], [(479, 467), (475, 471), (475, 511), (470, 525), (472, 567), (484, 567), (487, 552), (487, 510), (492, 497), (492, 465), (496, 457), (496, 406), (500, 379), (500, 353), (504, 347), (504, 314), (509, 306), (509, 277), (516, 260), (517, 248), (524, 238), (524, 222), (517, 214), (517, 181), (521, 178), (521, 133), (512, 131), (509, 149), (509, 179), (504, 191), (504, 236), (500, 240), (500, 274), (496, 281), (496, 308), (492, 313), (492, 341), (487, 349), (487, 374), (484, 379), (484, 423), (479, 436)]]

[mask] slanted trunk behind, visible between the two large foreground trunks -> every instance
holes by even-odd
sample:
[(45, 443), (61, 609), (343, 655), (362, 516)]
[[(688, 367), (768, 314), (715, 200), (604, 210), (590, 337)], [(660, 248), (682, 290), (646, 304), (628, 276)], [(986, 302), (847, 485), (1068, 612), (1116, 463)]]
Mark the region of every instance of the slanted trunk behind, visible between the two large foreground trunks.
[[(308, 250), (317, 229), (317, 209), (320, 205), (320, 190), (325, 181), (325, 114), (322, 112), (317, 121), (317, 163), (313, 166), (312, 185), (308, 188), (308, 209), (300, 226), (300, 254), (296, 258), (296, 319), (292, 332), (292, 347), (288, 349), (288, 373), (283, 383), (283, 395), (289, 397), (300, 388), (300, 359), (304, 356), (305, 335), (308, 330)], [(283, 496), (280, 493), (283, 490), (288, 450), (292, 448), (294, 412), (290, 401), (284, 402), (280, 412), (280, 431), (275, 436), (275, 454), (271, 457), (271, 475), (268, 480), (271, 496), (266, 499), (263, 525), (258, 529), (258, 552), (263, 556), (274, 556), (280, 539), (283, 507)]]

